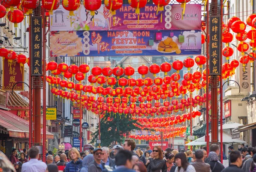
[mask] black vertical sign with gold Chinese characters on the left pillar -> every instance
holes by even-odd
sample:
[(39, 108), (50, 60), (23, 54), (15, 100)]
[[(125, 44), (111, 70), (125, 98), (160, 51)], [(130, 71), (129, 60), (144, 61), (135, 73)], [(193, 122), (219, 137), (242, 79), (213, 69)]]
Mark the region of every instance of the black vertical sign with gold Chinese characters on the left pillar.
[(42, 17), (31, 17), (31, 75), (42, 76)]

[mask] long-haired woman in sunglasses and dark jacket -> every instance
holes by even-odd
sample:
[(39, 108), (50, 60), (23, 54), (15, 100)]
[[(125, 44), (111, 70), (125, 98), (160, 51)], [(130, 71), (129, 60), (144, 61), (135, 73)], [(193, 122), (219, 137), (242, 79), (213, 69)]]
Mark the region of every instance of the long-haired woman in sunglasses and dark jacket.
[(148, 172), (161, 172), (164, 165), (163, 153), (160, 146), (155, 146), (153, 148), (154, 158), (149, 158), (146, 165), (148, 165)]

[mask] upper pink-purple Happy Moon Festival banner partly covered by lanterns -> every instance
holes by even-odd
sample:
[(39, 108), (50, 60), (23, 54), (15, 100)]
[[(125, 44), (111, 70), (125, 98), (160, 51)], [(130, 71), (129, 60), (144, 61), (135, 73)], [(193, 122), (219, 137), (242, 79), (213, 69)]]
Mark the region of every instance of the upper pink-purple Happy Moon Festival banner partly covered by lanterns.
[[(135, 8), (128, 4), (116, 10), (113, 16), (102, 5), (95, 12), (94, 17), (84, 6), (74, 11), (74, 16), (63, 6), (53, 11), (50, 16), (51, 31), (126, 31), (126, 30), (199, 30), (201, 29), (201, 5), (186, 4), (186, 11), (182, 17), (183, 8), (180, 4), (167, 5), (164, 11), (158, 11), (157, 6), (147, 5), (140, 8), (140, 17), (135, 14)], [(94, 25), (93, 25), (94, 22)], [(70, 24), (72, 23), (72, 24)]]

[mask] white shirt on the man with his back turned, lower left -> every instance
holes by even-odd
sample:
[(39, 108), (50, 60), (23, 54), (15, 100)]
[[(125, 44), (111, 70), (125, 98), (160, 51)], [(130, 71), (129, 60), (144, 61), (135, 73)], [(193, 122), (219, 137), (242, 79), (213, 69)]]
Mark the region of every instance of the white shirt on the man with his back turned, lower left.
[(45, 172), (47, 165), (38, 161), (38, 159), (30, 159), (28, 162), (22, 164), (21, 172)]

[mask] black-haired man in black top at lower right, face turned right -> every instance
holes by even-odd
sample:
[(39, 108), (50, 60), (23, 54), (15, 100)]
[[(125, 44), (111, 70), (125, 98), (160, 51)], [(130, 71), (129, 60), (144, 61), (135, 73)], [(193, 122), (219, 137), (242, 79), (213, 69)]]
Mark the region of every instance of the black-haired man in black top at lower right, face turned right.
[(239, 168), (243, 162), (241, 152), (232, 151), (230, 153), (230, 162), (230, 166), (223, 169), (221, 172), (244, 172), (242, 169)]

